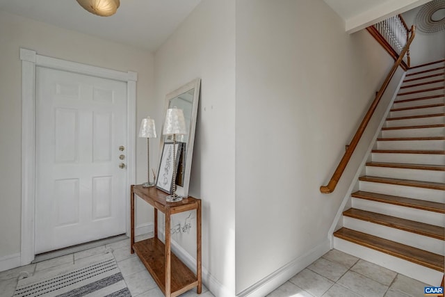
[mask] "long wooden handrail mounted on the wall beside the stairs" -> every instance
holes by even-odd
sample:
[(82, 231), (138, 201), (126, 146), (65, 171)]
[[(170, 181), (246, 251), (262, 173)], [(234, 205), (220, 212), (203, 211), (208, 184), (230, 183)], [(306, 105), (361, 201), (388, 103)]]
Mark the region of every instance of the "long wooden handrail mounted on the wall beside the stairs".
[(416, 35), (416, 28), (413, 25), (411, 27), (411, 37), (407, 42), (407, 45), (403, 48), (403, 51), (398, 56), (398, 59), (396, 63), (394, 63), (393, 67), (389, 71), (389, 74), (385, 81), (383, 82), (382, 88), (378, 91), (377, 95), (375, 96), (375, 99), (371, 106), (369, 106), (368, 112), (366, 112), (366, 115), (364, 116), (362, 123), (360, 124), (359, 128), (355, 132), (355, 135), (353, 137), (353, 140), (350, 142), (350, 145), (348, 146), (348, 149), (346, 150), (345, 154), (343, 154), (343, 158), (341, 158), (341, 161), (339, 163), (339, 166), (337, 166), (337, 169), (334, 171), (334, 174), (332, 175), (329, 183), (326, 186), (321, 186), (320, 191), (321, 193), (332, 193), (335, 189), (335, 186), (337, 186), (337, 183), (339, 182), (339, 179), (341, 175), (343, 174), (343, 171), (346, 168), (346, 165), (348, 165), (348, 162), (350, 160), (350, 157), (353, 155), (353, 152), (355, 150), (355, 147), (357, 147), (357, 144), (359, 143), (360, 138), (362, 138), (362, 135), (364, 133), (364, 130), (366, 129), (366, 126), (368, 126), (369, 121), (371, 120), (371, 117), (377, 108), (380, 99), (382, 99), (383, 93), (385, 93), (385, 90), (387, 89), (389, 85), (389, 81), (391, 81), (392, 77), (394, 76), (394, 73), (396, 73), (397, 67), (401, 64), (403, 56), (405, 56), (407, 50), (410, 48), (411, 42), (414, 39), (414, 35)]

